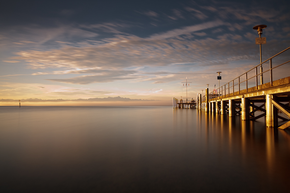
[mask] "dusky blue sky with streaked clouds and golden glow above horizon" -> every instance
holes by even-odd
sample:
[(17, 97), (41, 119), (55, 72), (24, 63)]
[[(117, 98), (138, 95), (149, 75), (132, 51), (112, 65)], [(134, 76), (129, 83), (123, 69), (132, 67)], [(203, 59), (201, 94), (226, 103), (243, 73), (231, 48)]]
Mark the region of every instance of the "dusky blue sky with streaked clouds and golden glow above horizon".
[[(2, 1), (0, 99), (170, 101), (290, 46), (290, 1)], [(283, 57), (281, 56), (281, 61)], [(277, 62), (280, 62), (280, 60)], [(277, 63), (278, 64), (278, 63)], [(169, 103), (171, 104), (171, 103)]]

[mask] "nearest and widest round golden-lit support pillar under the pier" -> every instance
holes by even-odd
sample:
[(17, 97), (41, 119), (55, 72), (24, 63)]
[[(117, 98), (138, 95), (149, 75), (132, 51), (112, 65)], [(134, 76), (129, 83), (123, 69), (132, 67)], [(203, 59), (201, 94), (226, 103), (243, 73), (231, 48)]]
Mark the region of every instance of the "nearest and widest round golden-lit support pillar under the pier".
[(278, 126), (278, 109), (271, 103), (274, 98), (273, 95), (266, 95), (266, 126), (277, 127)]

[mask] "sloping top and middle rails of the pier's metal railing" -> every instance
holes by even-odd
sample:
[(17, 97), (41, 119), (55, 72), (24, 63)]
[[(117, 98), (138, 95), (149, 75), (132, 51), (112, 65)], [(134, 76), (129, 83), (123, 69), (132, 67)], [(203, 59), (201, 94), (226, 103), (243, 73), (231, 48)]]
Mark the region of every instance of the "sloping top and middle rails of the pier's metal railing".
[[(277, 68), (277, 67), (279, 67), (279, 66), (281, 66), (281, 65), (284, 65), (284, 64), (286, 64), (286, 63), (289, 63), (290, 60), (287, 61), (287, 62), (285, 62), (285, 63), (282, 63), (282, 64), (280, 64), (280, 65), (278, 65), (278, 66), (275, 66), (275, 67), (273, 67), (273, 68), (271, 67), (271, 60), (272, 60), (272, 58), (278, 56), (279, 54), (282, 54), (283, 52), (287, 51), (288, 49), (290, 49), (290, 47), (288, 47), (287, 49), (284, 49), (282, 52), (279, 52), (278, 54), (272, 56), (271, 58), (265, 60), (264, 62), (258, 64), (257, 66), (251, 68), (250, 70), (248, 70), (247, 72), (243, 73), (242, 75), (236, 77), (235, 79), (233, 79), (233, 80), (227, 82), (226, 84), (228, 84), (228, 88), (226, 88), (226, 84), (224, 84), (224, 85), (222, 85), (221, 87), (219, 87), (218, 89), (216, 89), (215, 91), (209, 93), (209, 96), (212, 96), (212, 95), (219, 95), (219, 98), (220, 98), (220, 88), (221, 88), (221, 91), (224, 91), (224, 92), (225, 92), (225, 95), (226, 95), (226, 90), (228, 90), (228, 93), (229, 93), (229, 92), (230, 92), (229, 89), (232, 88), (232, 87), (233, 87), (233, 94), (234, 94), (234, 86), (236, 86), (236, 85), (240, 85), (240, 84), (243, 83), (243, 82), (247, 82), (247, 81), (250, 80), (251, 78), (258, 77), (259, 75), (261, 75), (261, 74), (263, 74), (263, 73), (265, 73), (265, 72), (267, 72), (267, 71), (271, 71), (271, 70), (274, 69), (274, 68)], [(266, 70), (266, 71), (264, 71), (264, 72), (262, 72), (262, 73), (259, 73), (259, 74), (256, 72), (256, 75), (255, 75), (255, 76), (252, 76), (251, 78), (247, 78), (247, 73), (248, 73), (249, 71), (251, 71), (251, 70), (257, 68), (258, 66), (262, 65), (263, 63), (265, 63), (265, 62), (267, 62), (267, 61), (269, 61), (269, 60), (270, 60), (270, 69), (268, 69), (268, 70)], [(246, 80), (240, 82), (240, 77), (243, 76), (243, 75), (245, 75), (245, 74), (246, 74)], [(271, 76), (271, 72), (270, 72), (270, 76)], [(239, 78), (239, 82), (238, 82), (238, 84), (234, 84), (234, 80), (236, 80), (236, 79), (238, 79), (238, 78)], [(270, 79), (271, 79), (271, 78), (270, 78)], [(230, 83), (230, 82), (233, 82), (233, 85), (232, 85), (231, 87), (229, 86), (229, 83)], [(247, 84), (247, 83), (246, 83), (246, 84)], [(272, 80), (271, 80), (271, 84), (272, 84)], [(257, 88), (258, 88), (258, 83), (257, 83), (257, 82), (256, 82), (256, 86), (257, 86)], [(222, 87), (225, 87), (225, 89), (223, 90)], [(248, 88), (247, 88), (247, 89), (248, 89)], [(219, 93), (217, 93), (217, 90), (219, 90)], [(215, 92), (215, 93), (214, 93), (214, 92)], [(239, 87), (239, 93), (240, 93), (240, 87)], [(223, 94), (222, 94), (222, 95), (223, 95)], [(202, 99), (201, 99), (201, 100), (204, 101), (204, 98), (205, 98), (205, 95), (202, 96)], [(217, 98), (217, 97), (214, 97), (214, 98)]]

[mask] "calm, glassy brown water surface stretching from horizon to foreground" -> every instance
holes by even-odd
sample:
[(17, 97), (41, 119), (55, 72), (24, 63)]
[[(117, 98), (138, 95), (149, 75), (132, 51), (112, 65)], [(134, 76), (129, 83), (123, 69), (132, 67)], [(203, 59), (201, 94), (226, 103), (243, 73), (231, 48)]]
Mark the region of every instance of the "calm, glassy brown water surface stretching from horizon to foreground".
[(262, 121), (172, 107), (1, 106), (0, 192), (289, 192), (289, 129)]

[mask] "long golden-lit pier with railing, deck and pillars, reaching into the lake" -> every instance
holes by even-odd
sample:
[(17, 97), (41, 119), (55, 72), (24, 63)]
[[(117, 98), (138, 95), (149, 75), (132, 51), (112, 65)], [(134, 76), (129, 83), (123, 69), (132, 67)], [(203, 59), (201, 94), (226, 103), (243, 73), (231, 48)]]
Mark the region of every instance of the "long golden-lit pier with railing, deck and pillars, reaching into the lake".
[[(206, 88), (205, 95), (202, 96), (201, 93), (198, 93), (196, 103), (193, 103), (190, 107), (229, 117), (241, 115), (242, 120), (254, 121), (265, 117), (267, 127), (289, 128), (290, 76), (273, 80), (273, 75), (281, 76), (283, 73), (290, 75), (290, 60), (275, 64), (274, 67), (272, 63), (272, 59), (289, 49), (290, 47), (261, 62), (213, 92), (209, 93), (209, 89)], [(289, 59), (289, 51), (287, 54), (286, 58)], [(282, 57), (282, 59), (284, 58)], [(267, 65), (268, 68), (263, 71), (262, 65)], [(261, 69), (260, 73), (258, 73), (258, 67)], [(263, 78), (269, 82), (263, 84)], [(260, 84), (258, 79), (261, 80), (259, 81)], [(182, 103), (182, 100), (178, 103), (176, 98), (173, 101), (173, 108), (184, 108), (187, 104)], [(256, 111), (262, 111), (263, 113), (255, 116)], [(278, 115), (278, 111), (288, 118)], [(288, 122), (279, 125), (279, 120), (288, 120)]]

